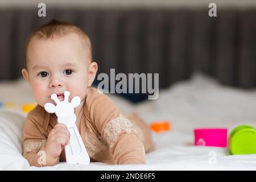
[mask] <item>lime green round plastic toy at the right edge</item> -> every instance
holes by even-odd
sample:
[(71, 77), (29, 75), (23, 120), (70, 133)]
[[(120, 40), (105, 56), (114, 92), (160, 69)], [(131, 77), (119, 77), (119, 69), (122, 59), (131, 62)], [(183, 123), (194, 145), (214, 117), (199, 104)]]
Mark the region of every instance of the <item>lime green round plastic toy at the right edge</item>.
[(256, 129), (250, 125), (234, 128), (228, 137), (231, 154), (256, 154)]

